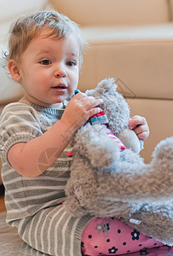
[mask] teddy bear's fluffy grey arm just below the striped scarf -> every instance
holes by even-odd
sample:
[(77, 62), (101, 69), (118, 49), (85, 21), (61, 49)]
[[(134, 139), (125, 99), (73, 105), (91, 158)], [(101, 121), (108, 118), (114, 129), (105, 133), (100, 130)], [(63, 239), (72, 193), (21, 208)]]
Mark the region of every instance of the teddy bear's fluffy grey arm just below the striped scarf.
[(78, 131), (74, 151), (87, 158), (93, 167), (111, 166), (119, 160), (120, 148), (108, 132), (105, 125), (85, 125)]

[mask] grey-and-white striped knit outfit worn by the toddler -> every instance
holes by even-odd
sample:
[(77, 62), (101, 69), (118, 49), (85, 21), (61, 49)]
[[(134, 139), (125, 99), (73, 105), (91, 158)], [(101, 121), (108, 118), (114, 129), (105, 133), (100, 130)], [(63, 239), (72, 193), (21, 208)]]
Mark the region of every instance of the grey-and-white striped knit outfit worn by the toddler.
[[(82, 232), (91, 217), (73, 218), (69, 212), (63, 210), (61, 205), (66, 197), (66, 182), (70, 177), (72, 157), (68, 157), (68, 153), (72, 151), (71, 143), (67, 145), (61, 156), (55, 160), (55, 163), (38, 177), (21, 176), (9, 165), (7, 158), (9, 148), (15, 143), (26, 143), (43, 135), (57, 120), (61, 119), (63, 112), (63, 109), (43, 108), (26, 102), (10, 103), (3, 109), (0, 118), (0, 152), (3, 161), (2, 177), (6, 191), (7, 223), (16, 226), (21, 238), (43, 253), (79, 256), (81, 255)], [(55, 211), (56, 208), (59, 209), (58, 212)], [(31, 234), (34, 226), (32, 228), (30, 226), (30, 238), (27, 238), (25, 222), (27, 221), (28, 224), (30, 221), (32, 225), (32, 218), (39, 214), (41, 214), (40, 216), (45, 215), (45, 210), (48, 211), (47, 214), (56, 212), (54, 216), (56, 222), (52, 223), (52, 228), (55, 227), (55, 224), (61, 222), (63, 229), (59, 228), (57, 232), (60, 232), (58, 237), (61, 236), (63, 239), (61, 238), (59, 246), (55, 241), (55, 246), (51, 244), (50, 247), (43, 249), (43, 245), (46, 242), (49, 243), (49, 241), (43, 238), (43, 244), (41, 244), (38, 236), (35, 236), (34, 241), (32, 241)], [(45, 229), (47, 229), (45, 216), (43, 219), (39, 217), (40, 224), (43, 227), (44, 223)], [(48, 226), (51, 230), (50, 224)], [(29, 234), (29, 230), (27, 230), (27, 234)], [(69, 247), (70, 244), (71, 247)], [(68, 250), (69, 254), (64, 254), (62, 245), (64, 249)]]

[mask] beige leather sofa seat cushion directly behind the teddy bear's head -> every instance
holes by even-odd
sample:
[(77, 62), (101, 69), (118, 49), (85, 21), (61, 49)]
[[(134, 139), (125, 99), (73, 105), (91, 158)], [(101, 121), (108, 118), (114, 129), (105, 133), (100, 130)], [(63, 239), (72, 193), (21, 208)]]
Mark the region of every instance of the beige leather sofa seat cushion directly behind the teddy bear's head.
[(173, 23), (154, 26), (84, 27), (89, 47), (79, 89), (117, 79), (131, 97), (173, 99)]

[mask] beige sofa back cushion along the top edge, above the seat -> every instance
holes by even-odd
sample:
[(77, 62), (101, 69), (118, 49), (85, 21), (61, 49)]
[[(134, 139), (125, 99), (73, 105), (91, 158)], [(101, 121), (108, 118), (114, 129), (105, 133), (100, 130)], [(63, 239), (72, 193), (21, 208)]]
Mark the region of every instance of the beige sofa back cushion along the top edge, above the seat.
[(81, 26), (156, 24), (170, 19), (167, 0), (50, 0)]

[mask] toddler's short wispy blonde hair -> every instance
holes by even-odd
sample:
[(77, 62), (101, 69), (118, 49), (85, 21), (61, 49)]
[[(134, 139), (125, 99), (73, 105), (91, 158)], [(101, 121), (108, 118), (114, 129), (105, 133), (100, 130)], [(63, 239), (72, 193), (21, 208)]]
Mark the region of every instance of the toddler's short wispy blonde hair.
[(16, 20), (10, 28), (9, 52), (4, 54), (6, 60), (20, 61), (20, 55), (43, 29), (48, 29), (46, 34), (48, 38), (62, 39), (73, 33), (79, 44), (79, 66), (81, 66), (85, 42), (78, 24), (56, 11), (40, 11), (33, 15), (21, 16)]

